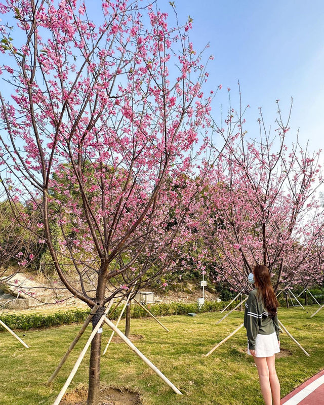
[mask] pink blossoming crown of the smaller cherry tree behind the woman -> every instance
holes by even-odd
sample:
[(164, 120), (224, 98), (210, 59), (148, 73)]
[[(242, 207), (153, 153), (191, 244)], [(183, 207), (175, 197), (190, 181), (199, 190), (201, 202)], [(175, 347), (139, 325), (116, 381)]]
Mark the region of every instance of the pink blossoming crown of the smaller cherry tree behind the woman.
[(279, 104), (276, 135), (266, 129), (260, 109), (260, 135), (248, 139), (244, 113), (229, 110), (229, 138), (207, 180), (199, 222), (207, 249), (201, 263), (213, 269), (215, 281), (225, 279), (241, 293), (251, 289), (253, 266), (264, 264), (277, 291), (282, 282), (291, 285), (299, 269), (313, 260), (323, 234), (316, 194), (323, 184), (319, 152), (310, 155), (298, 137), (286, 146), (289, 119), (284, 123)]

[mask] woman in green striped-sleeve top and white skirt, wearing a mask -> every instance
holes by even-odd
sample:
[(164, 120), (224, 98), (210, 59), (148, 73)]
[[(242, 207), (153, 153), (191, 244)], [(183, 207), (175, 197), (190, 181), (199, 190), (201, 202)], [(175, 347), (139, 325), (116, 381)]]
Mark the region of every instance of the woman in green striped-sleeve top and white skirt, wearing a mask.
[(244, 326), (247, 328), (248, 354), (256, 363), (265, 405), (280, 405), (280, 384), (275, 371), (275, 353), (280, 351), (278, 301), (274, 294), (270, 272), (257, 265), (249, 274), (255, 285), (245, 306)]

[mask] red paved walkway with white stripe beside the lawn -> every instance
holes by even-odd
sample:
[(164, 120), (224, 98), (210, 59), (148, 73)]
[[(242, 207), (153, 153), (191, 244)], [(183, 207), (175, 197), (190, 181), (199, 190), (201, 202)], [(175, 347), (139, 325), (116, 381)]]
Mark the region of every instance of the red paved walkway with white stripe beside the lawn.
[(324, 405), (324, 370), (281, 399), (280, 405)]

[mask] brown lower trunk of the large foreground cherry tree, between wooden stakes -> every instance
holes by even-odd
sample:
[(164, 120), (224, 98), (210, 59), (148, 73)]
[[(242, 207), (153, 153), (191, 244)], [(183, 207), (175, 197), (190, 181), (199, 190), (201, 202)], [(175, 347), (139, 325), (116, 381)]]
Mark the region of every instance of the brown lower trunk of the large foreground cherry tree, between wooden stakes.
[[(99, 322), (105, 308), (100, 307), (92, 318), (92, 329)], [(99, 312), (99, 313), (98, 313)], [(99, 331), (100, 332), (100, 329)], [(100, 393), (100, 356), (101, 356), (101, 336), (102, 333), (96, 333), (91, 342), (90, 368), (89, 368), (89, 390), (88, 405), (97, 405)]]

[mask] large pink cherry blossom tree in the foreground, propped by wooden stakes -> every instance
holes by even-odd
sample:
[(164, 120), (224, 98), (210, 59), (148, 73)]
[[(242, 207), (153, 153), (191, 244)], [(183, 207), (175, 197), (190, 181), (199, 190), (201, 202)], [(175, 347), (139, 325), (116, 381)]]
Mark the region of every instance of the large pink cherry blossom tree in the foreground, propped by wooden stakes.
[[(0, 11), (11, 18), (1, 27), (1, 186), (41, 213), (39, 244), (64, 286), (100, 303), (94, 327), (113, 298), (182, 260), (195, 176), (208, 167), (206, 64), (191, 20), (169, 27), (136, 1), (103, 1), (100, 16), (76, 0), (8, 0)], [(100, 345), (96, 334), (89, 405)]]

